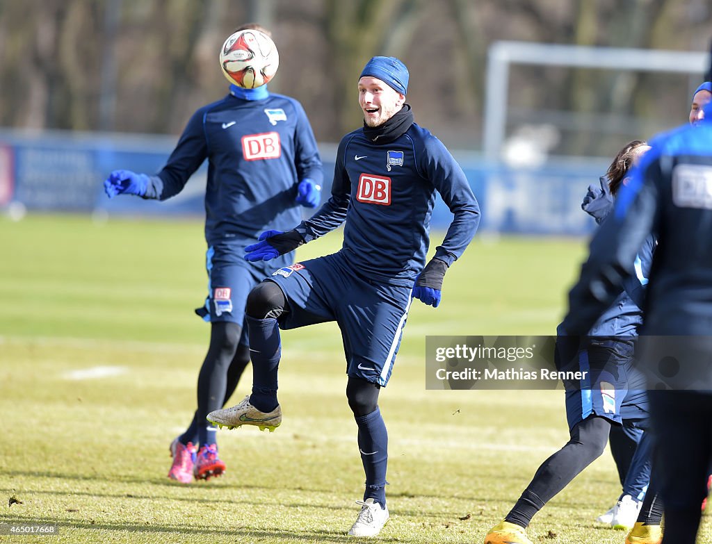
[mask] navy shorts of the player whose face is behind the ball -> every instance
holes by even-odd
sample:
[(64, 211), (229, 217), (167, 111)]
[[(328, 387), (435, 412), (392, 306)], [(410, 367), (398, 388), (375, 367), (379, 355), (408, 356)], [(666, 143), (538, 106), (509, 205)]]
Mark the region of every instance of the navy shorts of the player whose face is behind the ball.
[(196, 313), (204, 321), (229, 321), (242, 326), (240, 343), (247, 345), (245, 302), (247, 295), (276, 267), (290, 262), (292, 255), (279, 257), (283, 262), (251, 263), (244, 259), (244, 243), (211, 245), (205, 254), (208, 272), (208, 296)]

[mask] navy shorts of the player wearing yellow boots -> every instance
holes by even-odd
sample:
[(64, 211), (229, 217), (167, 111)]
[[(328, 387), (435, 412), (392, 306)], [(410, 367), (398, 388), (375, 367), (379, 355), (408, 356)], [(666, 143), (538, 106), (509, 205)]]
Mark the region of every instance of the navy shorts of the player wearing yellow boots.
[(644, 378), (635, 369), (634, 352), (634, 338), (587, 338), (575, 351), (557, 338), (557, 368), (586, 372), (581, 380), (564, 380), (570, 430), (591, 415), (619, 425), (627, 420), (645, 427), (647, 396)]

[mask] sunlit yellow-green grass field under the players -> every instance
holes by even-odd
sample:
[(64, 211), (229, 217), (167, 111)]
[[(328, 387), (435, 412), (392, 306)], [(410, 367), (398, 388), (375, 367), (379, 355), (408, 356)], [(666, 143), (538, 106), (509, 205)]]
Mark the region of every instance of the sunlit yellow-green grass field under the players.
[[(300, 258), (339, 242), (334, 233)], [(202, 225), (0, 218), (0, 247), (0, 523), (59, 524), (53, 537), (0, 542), (354, 541), (345, 531), (363, 474), (335, 326), (283, 334), (283, 425), (221, 432), (227, 473), (184, 486), (166, 478), (167, 448), (192, 417), (209, 333), (192, 314), (206, 290)], [(424, 338), (553, 334), (584, 251), (582, 240), (480, 236), (449, 271), (441, 306), (414, 304), (380, 399), (392, 517), (378, 541), (481, 544), (566, 441), (560, 391), (425, 390)], [(622, 543), (593, 521), (618, 494), (606, 453), (530, 536)], [(707, 518), (701, 542), (712, 540)]]

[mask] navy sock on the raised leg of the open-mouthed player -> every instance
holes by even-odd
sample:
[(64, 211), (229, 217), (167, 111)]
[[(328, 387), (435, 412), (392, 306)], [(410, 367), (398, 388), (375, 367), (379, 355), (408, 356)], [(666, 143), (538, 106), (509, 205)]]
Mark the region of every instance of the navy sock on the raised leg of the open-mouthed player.
[(277, 320), (247, 316), (250, 357), (252, 359), (252, 394), (250, 404), (261, 412), (271, 412), (277, 405), (277, 371), (282, 343)]

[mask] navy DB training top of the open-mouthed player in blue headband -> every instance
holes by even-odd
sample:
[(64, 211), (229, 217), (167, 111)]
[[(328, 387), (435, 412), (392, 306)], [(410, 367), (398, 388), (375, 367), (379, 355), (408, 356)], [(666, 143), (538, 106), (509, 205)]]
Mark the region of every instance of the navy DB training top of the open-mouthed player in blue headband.
[(451, 265), (480, 219), (459, 164), (415, 123), (385, 144), (370, 142), (360, 128), (339, 144), (329, 200), (297, 230), (309, 242), (345, 221), (340, 252), (357, 274), (412, 287), (425, 265), (435, 191), (454, 214), (435, 257)]

